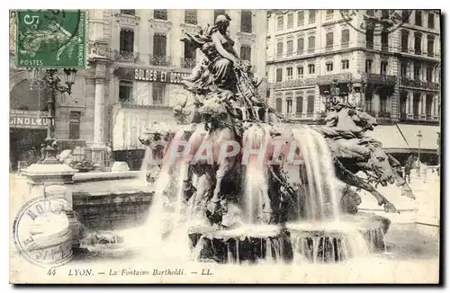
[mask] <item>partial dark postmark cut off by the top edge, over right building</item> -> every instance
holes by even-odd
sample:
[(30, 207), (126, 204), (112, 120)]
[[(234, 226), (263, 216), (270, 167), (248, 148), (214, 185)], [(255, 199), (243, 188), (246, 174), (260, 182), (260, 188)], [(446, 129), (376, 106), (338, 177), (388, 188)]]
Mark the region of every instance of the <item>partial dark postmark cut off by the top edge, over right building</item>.
[(408, 21), (412, 10), (339, 10), (349, 26), (364, 34), (372, 31), (374, 35), (392, 33)]

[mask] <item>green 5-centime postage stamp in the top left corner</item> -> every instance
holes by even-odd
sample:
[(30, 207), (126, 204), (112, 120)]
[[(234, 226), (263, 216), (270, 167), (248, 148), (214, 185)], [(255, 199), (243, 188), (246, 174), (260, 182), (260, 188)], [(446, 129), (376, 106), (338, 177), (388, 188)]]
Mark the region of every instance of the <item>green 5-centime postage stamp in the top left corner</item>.
[(85, 68), (85, 11), (17, 11), (16, 49), (20, 68)]

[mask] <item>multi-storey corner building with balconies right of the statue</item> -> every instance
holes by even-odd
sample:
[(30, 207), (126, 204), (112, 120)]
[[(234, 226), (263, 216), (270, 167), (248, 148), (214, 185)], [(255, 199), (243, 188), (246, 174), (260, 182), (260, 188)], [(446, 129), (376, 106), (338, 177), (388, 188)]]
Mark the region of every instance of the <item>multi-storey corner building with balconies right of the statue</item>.
[(322, 123), (326, 94), (337, 83), (380, 124), (437, 127), (439, 13), (268, 11), (268, 101), (287, 118)]

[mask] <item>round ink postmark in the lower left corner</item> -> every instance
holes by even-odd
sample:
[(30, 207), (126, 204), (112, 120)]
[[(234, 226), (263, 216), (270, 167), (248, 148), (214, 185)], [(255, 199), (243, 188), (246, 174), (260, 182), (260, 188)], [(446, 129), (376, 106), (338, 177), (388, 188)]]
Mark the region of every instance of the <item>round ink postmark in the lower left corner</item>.
[(72, 243), (65, 211), (70, 203), (62, 198), (38, 197), (23, 205), (14, 218), (14, 244), (33, 264), (56, 267), (72, 258)]

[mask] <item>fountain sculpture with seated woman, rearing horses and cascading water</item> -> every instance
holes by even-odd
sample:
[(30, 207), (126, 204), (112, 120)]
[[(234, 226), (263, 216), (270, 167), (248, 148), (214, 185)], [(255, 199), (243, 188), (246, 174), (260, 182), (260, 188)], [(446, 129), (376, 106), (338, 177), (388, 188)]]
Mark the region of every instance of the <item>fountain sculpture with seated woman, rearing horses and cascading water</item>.
[(285, 120), (259, 96), (261, 81), (233, 49), (229, 22), (219, 15), (184, 35), (203, 56), (174, 108), (180, 128), (155, 124), (139, 136), (156, 186), (150, 213), (166, 215), (161, 235), (190, 223), (195, 259), (216, 262), (338, 262), (357, 254), (361, 239), (384, 249), (389, 220), (361, 215), (351, 187), (373, 194), (386, 212), (398, 211), (373, 183), (397, 182), (414, 196), (400, 164), (365, 136), (376, 120), (336, 93), (326, 125)]

